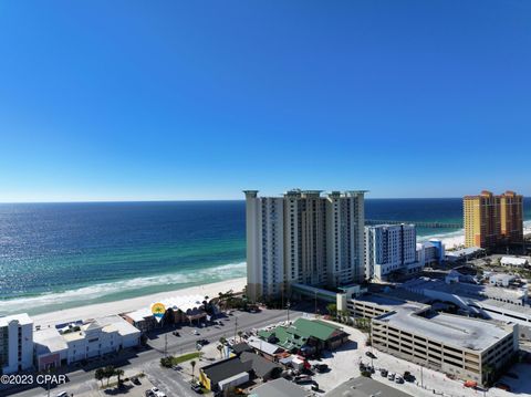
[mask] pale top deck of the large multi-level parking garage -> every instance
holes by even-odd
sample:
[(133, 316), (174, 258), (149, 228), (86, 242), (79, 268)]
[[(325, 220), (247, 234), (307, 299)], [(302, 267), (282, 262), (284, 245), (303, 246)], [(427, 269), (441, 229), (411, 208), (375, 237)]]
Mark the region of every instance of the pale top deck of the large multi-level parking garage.
[[(419, 315), (420, 313), (423, 315)], [(512, 334), (512, 327), (502, 324), (459, 315), (419, 311), (418, 307), (410, 304), (403, 305), (374, 320), (445, 345), (479, 352)]]

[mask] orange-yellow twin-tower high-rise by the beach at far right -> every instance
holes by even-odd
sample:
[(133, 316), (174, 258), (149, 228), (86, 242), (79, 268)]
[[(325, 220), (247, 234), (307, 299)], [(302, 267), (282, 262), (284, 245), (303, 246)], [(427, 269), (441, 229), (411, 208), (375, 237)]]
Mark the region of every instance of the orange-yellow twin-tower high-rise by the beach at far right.
[(465, 245), (493, 248), (521, 242), (523, 198), (513, 191), (501, 196), (483, 190), (464, 198)]

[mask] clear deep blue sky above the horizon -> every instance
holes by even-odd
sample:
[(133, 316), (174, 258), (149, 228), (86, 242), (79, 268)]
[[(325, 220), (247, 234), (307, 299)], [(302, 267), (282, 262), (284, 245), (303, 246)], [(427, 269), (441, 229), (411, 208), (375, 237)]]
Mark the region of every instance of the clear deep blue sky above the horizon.
[(531, 195), (531, 2), (0, 2), (0, 201)]

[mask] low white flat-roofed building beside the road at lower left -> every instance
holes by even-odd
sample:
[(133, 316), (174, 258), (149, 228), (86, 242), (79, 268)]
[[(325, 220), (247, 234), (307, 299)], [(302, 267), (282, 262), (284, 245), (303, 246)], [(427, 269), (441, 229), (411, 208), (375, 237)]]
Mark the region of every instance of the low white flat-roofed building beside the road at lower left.
[(42, 370), (138, 346), (140, 332), (121, 316), (112, 315), (40, 330), (34, 339), (37, 367)]

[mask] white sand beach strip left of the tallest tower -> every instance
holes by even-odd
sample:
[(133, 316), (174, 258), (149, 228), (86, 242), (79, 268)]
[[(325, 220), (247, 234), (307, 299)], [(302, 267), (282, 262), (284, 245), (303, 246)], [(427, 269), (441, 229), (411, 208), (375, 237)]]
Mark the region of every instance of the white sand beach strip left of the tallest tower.
[(124, 301), (97, 303), (87, 306), (80, 306), (66, 309), (58, 312), (38, 314), (32, 316), (33, 324), (41, 327), (52, 326), (54, 324), (66, 323), (76, 320), (97, 318), (111, 314), (119, 314), (124, 312), (132, 312), (142, 307), (149, 307), (152, 303), (158, 302), (177, 295), (201, 295), (201, 296), (218, 296), (219, 292), (227, 292), (233, 290), (235, 292), (243, 290), (247, 279), (231, 279), (218, 283), (204, 284), (191, 286), (188, 289), (160, 292), (152, 295), (138, 296)]

